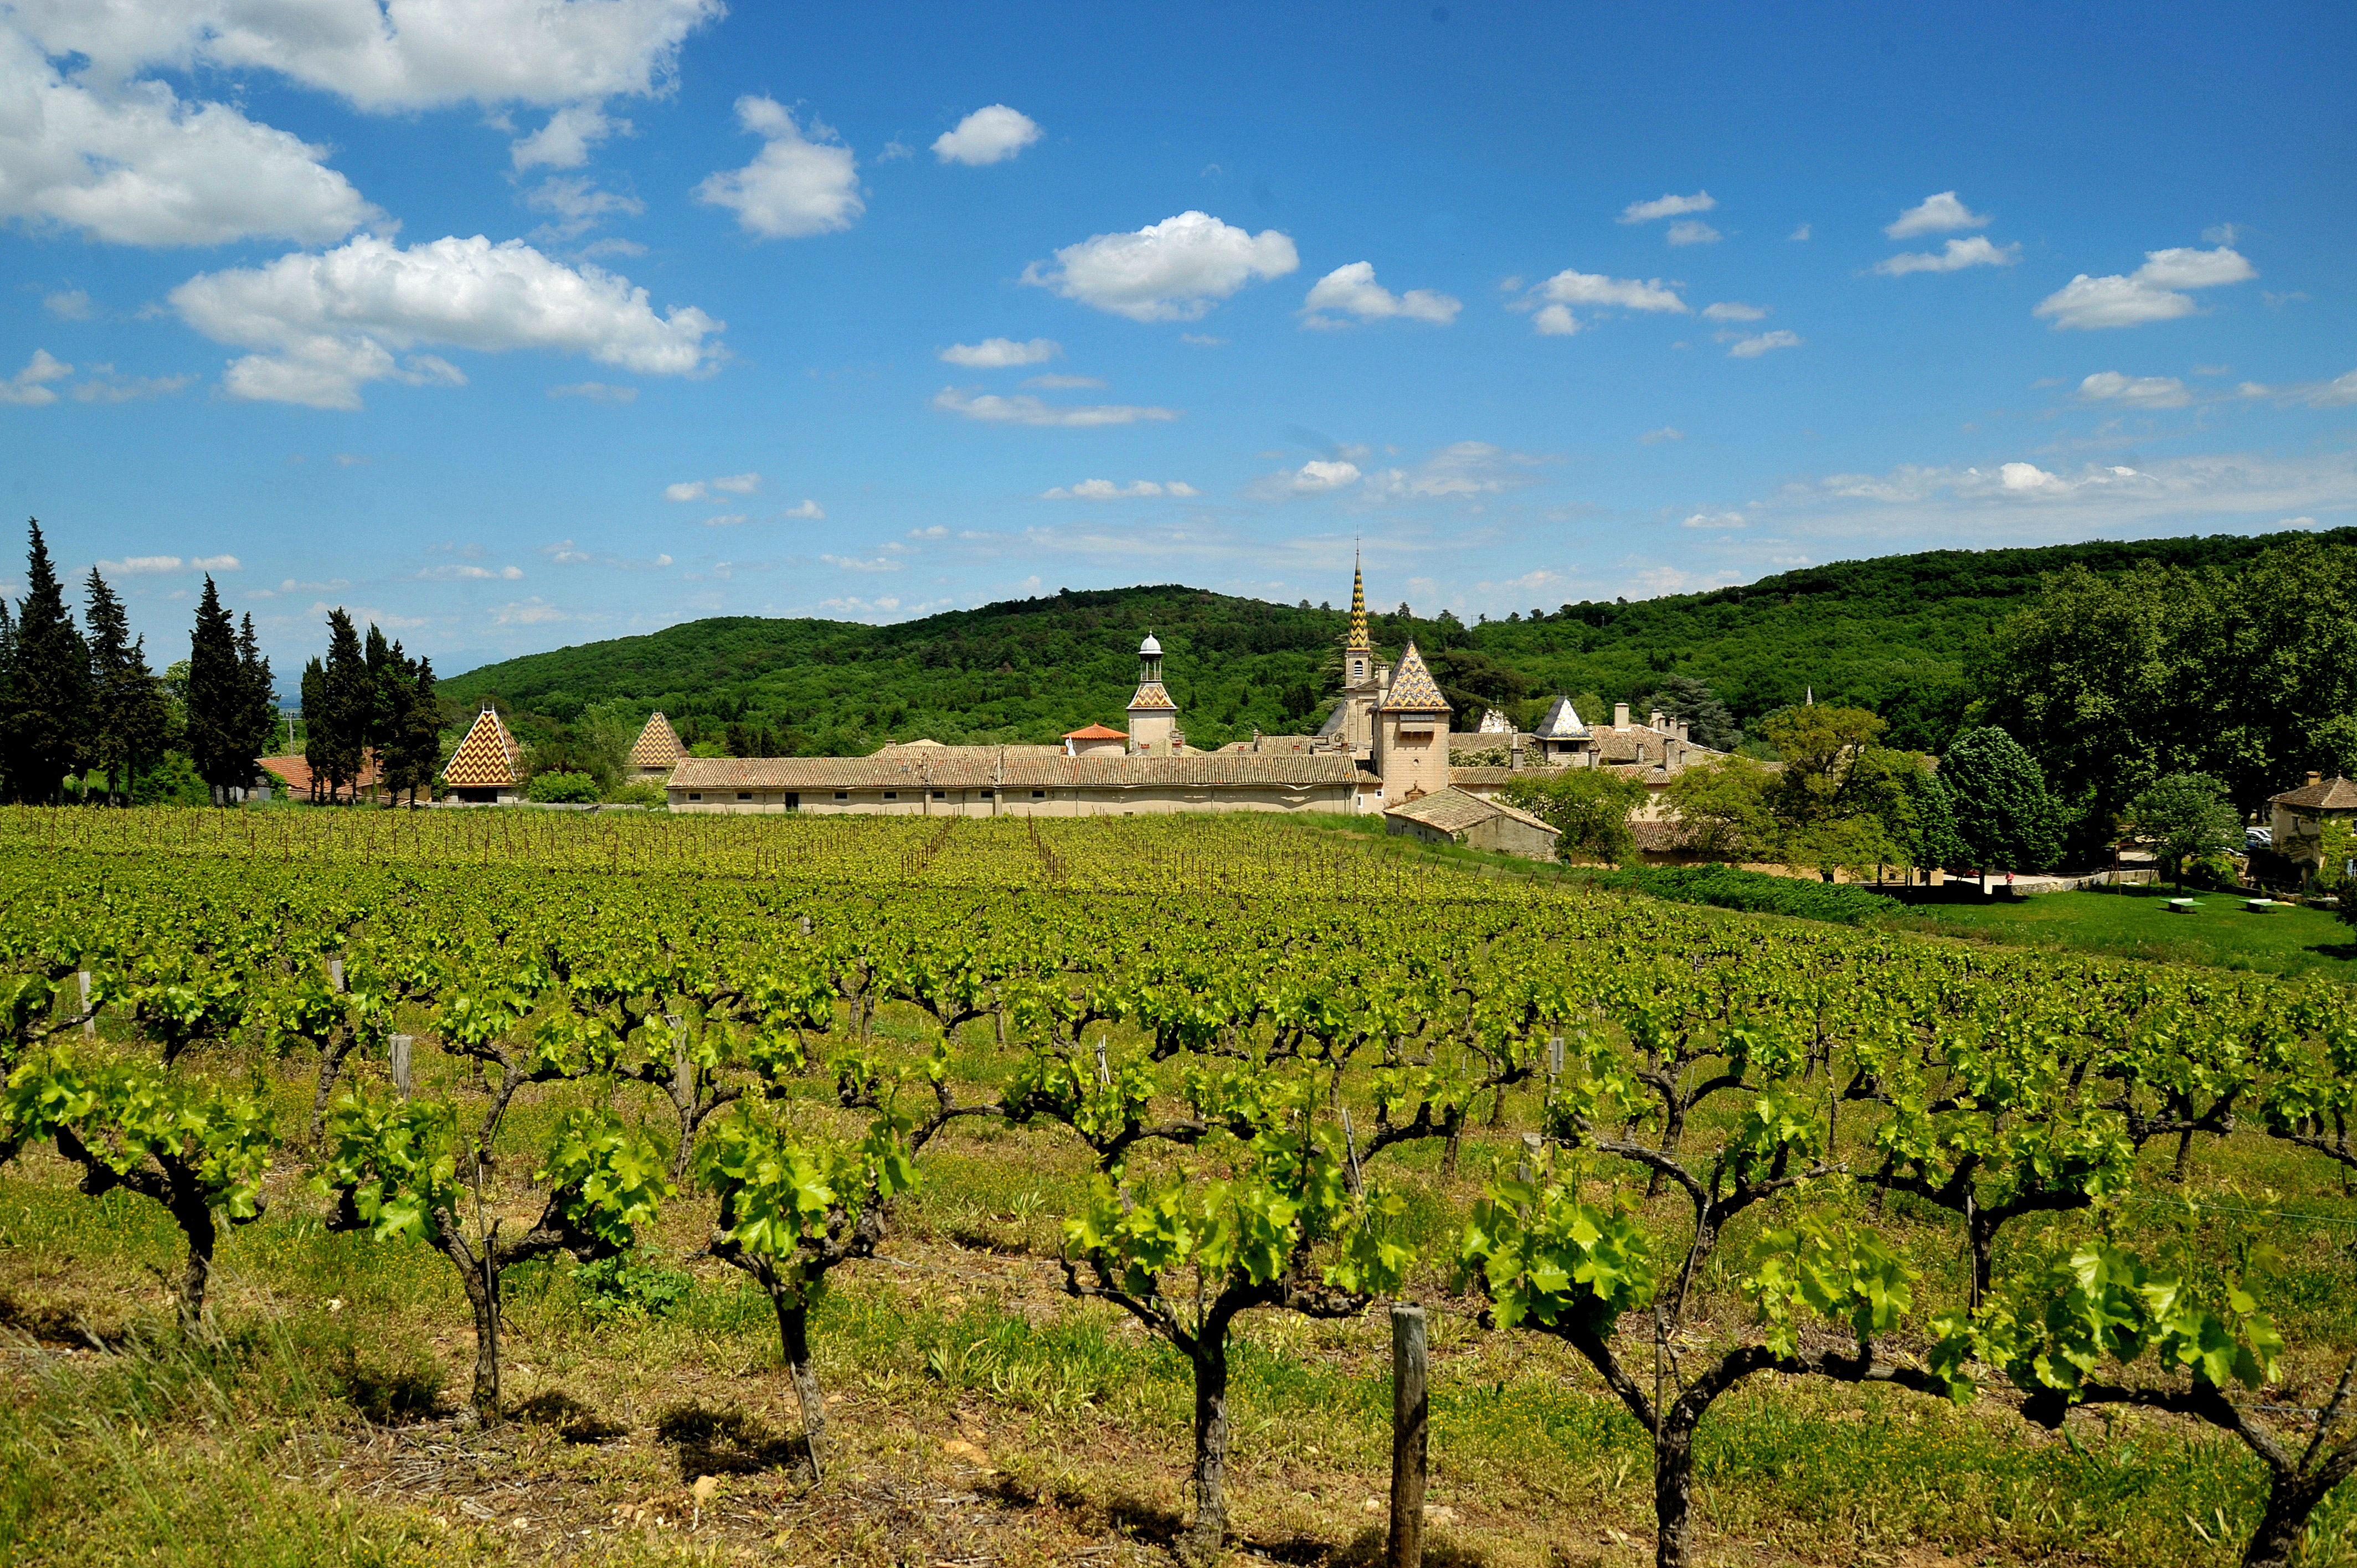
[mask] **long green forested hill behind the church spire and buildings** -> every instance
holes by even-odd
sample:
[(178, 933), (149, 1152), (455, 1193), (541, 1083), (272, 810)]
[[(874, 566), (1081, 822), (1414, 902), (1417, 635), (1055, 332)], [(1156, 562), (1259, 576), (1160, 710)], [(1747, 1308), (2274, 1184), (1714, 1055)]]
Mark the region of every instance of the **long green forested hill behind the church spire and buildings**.
[[(1813, 566), (1709, 594), (1534, 608), (1483, 625), (1409, 615), (1372, 622), (1388, 653), (1417, 639), (1464, 726), (1480, 705), (1527, 724), (1556, 691), (1643, 703), (1662, 677), (1685, 674), (1706, 681), (1739, 722), (1815, 691), (1820, 703), (1881, 712), (1902, 745), (1937, 750), (1970, 696), (1973, 658), (2044, 573), (2072, 561), (2102, 573), (2140, 559), (2225, 566), (2289, 538), (2298, 535), (1937, 549)], [(2319, 538), (2350, 545), (2357, 528)], [(1381, 592), (1381, 582), (1374, 587)], [(884, 627), (693, 620), (483, 665), (445, 679), (441, 691), (453, 714), (497, 698), (526, 738), (570, 724), (585, 707), (632, 719), (660, 707), (691, 743), (733, 738), (773, 755), (858, 752), (917, 736), (1054, 740), (1091, 719), (1124, 724), (1136, 646), (1155, 632), (1188, 738), (1219, 745), (1254, 726), (1315, 729), (1339, 684), (1343, 625), (1339, 608), (1178, 585), (1124, 587)]]

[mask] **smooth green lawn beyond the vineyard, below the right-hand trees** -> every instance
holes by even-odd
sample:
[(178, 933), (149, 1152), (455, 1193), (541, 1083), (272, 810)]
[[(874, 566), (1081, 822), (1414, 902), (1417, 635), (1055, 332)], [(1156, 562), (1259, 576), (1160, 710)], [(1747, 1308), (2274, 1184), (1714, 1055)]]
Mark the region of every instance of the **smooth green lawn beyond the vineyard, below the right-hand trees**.
[(2322, 971), (2357, 979), (2357, 931), (2329, 910), (2244, 910), (2237, 894), (2192, 894), (2192, 915), (2168, 910), (2171, 889), (2121, 889), (2102, 894), (2041, 894), (1989, 898), (1985, 903), (1926, 903), (1881, 924), (1937, 936), (2036, 948), (2079, 948), (2150, 957), (2171, 964), (2263, 969), (2270, 974)]

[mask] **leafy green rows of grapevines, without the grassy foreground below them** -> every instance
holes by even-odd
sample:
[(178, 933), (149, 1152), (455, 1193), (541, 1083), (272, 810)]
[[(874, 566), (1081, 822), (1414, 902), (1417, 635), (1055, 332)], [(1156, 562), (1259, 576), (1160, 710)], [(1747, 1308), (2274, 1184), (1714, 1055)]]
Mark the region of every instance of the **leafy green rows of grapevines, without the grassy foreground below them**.
[[(1714, 1403), (1805, 1379), (2044, 1427), (2168, 1412), (2251, 1455), (2242, 1561), (2345, 1528), (2357, 1313), (2145, 1219), (2230, 1139), (2317, 1203), (2357, 1179), (2357, 997), (2329, 983), (1485, 882), (1235, 818), (523, 818), (502, 846), (488, 813), (247, 844), (231, 813), (73, 816), (0, 813), (0, 1160), (47, 1146), (167, 1210), (191, 1335), (222, 1231), (297, 1167), (278, 1203), (448, 1259), (495, 1419), (502, 1276), (700, 1203), (823, 1474), (813, 1302), (889, 1247), (938, 1137), (1002, 1122), (1091, 1170), (1065, 1290), (1193, 1370), (1193, 1556), (1230, 1530), (1237, 1320), (1405, 1294), (1593, 1368), (1650, 1438), (1664, 1566)], [(306, 1125), (264, 1075), (304, 1080)], [(521, 1144), (514, 1106), (559, 1089)]]

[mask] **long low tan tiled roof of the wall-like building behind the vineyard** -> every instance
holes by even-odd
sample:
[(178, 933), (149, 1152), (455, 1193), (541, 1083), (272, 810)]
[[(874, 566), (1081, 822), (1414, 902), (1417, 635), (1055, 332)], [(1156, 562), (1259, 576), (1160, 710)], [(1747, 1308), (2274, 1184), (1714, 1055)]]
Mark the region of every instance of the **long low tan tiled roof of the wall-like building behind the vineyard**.
[(1355, 785), (1346, 755), (1263, 757), (1065, 757), (1061, 747), (948, 745), (929, 757), (688, 757), (674, 790), (1070, 790), (1070, 788), (1235, 788)]

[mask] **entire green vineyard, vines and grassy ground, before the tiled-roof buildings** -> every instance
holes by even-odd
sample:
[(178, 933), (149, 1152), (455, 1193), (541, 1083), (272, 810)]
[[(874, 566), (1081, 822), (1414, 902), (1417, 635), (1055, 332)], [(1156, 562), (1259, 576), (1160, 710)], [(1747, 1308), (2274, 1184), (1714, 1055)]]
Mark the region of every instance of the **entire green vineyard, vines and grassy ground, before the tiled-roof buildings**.
[(0, 1561), (2357, 1563), (2357, 995), (1475, 870), (0, 811)]

